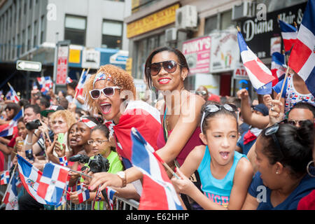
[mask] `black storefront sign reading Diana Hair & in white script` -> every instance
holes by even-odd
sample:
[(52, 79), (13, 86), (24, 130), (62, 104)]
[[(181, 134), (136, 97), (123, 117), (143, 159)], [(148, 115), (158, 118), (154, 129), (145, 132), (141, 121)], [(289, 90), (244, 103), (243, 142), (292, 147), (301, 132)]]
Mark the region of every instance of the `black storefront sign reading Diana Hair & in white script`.
[[(279, 50), (279, 44), (281, 44), (281, 49), (283, 49), (283, 41), (280, 41), (279, 43), (281, 29), (278, 23), (278, 16), (280, 20), (283, 20), (290, 25), (293, 25), (293, 22), (296, 22), (299, 26), (302, 22), (306, 4), (307, 3), (304, 2), (267, 13), (266, 20), (258, 20), (256, 17), (239, 20), (241, 34), (243, 34), (248, 48), (250, 48), (260, 59), (271, 57), (272, 52)], [(281, 52), (281, 50), (278, 52)]]

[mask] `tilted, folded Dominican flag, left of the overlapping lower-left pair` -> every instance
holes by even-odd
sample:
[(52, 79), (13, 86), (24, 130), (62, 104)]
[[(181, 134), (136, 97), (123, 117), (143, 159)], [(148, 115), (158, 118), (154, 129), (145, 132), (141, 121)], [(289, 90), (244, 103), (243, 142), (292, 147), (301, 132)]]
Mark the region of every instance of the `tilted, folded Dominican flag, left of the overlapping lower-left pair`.
[(47, 204), (43, 197), (39, 196), (37, 193), (39, 180), (41, 179), (43, 173), (27, 162), (27, 160), (22, 158), (22, 156), (16, 156), (18, 157), (18, 168), (23, 187), (27, 190), (27, 193), (29, 193), (31, 197), (34, 197), (34, 200), (41, 204)]

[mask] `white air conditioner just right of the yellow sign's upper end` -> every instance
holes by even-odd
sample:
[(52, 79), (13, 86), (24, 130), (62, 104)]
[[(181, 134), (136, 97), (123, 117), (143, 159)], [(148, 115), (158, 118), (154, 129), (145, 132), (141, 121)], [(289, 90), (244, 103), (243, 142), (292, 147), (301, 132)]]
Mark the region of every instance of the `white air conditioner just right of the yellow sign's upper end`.
[(186, 5), (176, 10), (175, 27), (178, 30), (195, 29), (197, 27), (198, 13), (196, 6)]

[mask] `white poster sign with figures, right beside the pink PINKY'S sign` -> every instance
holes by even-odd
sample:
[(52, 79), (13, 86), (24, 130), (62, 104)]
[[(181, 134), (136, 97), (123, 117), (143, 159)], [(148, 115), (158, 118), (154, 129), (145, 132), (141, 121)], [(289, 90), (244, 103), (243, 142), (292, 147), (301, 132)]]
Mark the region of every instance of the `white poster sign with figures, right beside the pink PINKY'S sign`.
[(235, 69), (235, 64), (239, 62), (239, 48), (237, 46), (236, 29), (211, 34), (210, 73)]

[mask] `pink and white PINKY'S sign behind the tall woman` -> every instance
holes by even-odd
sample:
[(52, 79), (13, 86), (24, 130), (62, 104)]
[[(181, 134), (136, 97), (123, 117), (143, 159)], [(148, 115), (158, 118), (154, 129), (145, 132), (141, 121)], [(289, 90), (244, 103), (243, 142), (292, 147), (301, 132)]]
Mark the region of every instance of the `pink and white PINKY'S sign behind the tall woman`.
[(209, 73), (210, 69), (211, 37), (203, 36), (183, 42), (183, 55), (185, 55), (190, 74)]

